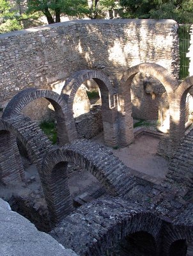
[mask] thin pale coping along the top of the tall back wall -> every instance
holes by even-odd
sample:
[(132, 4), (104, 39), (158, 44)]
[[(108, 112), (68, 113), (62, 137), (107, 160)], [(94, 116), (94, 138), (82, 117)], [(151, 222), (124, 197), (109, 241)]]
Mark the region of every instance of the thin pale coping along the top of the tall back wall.
[(31, 32), (43, 31), (45, 29), (68, 27), (77, 24), (177, 24), (175, 20), (163, 19), (163, 20), (153, 20), (153, 19), (96, 19), (96, 20), (70, 20), (65, 22), (54, 23), (45, 26), (39, 26), (36, 28), (23, 29), (19, 31), (13, 31), (10, 33), (4, 33), (0, 35), (0, 39), (6, 39), (12, 36), (25, 35)]

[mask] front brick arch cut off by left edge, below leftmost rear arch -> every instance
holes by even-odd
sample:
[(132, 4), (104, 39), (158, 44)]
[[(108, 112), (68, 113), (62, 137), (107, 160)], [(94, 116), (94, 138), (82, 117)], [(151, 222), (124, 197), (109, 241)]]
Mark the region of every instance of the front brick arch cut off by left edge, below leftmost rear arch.
[(24, 169), (17, 147), (18, 138), (26, 148), (29, 159), (35, 163), (40, 174), (42, 159), (52, 149), (49, 138), (30, 118), (17, 115), (0, 120), (0, 180), (4, 184), (24, 179)]

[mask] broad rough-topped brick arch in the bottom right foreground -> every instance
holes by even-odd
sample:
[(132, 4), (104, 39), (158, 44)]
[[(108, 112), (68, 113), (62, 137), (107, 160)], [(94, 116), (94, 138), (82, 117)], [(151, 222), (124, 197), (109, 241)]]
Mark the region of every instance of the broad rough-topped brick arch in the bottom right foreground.
[(88, 256), (185, 256), (192, 240), (190, 228), (163, 221), (121, 198), (82, 206), (61, 221), (51, 235), (78, 255)]

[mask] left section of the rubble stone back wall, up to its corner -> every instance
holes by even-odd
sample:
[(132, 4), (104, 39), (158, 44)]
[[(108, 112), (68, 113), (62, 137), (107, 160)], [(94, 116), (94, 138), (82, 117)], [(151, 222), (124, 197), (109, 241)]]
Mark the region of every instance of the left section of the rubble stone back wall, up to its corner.
[[(66, 77), (79, 69), (75, 25), (45, 26), (0, 35), (0, 104), (24, 88), (37, 87), (58, 92)], [(41, 100), (38, 100), (42, 106)], [(45, 104), (43, 104), (45, 108)], [(32, 104), (28, 113), (33, 117)], [(36, 108), (37, 115), (42, 109)], [(36, 115), (34, 115), (36, 119)]]

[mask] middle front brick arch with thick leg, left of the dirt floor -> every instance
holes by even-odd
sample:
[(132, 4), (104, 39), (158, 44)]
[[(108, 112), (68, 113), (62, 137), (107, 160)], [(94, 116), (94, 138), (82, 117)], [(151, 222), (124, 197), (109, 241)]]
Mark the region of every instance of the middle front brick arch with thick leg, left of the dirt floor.
[(45, 200), (53, 223), (58, 223), (73, 209), (67, 163), (75, 163), (88, 170), (111, 195), (124, 195), (135, 184), (129, 168), (102, 145), (75, 140), (65, 147), (52, 150), (43, 161), (42, 175), (45, 177)]

